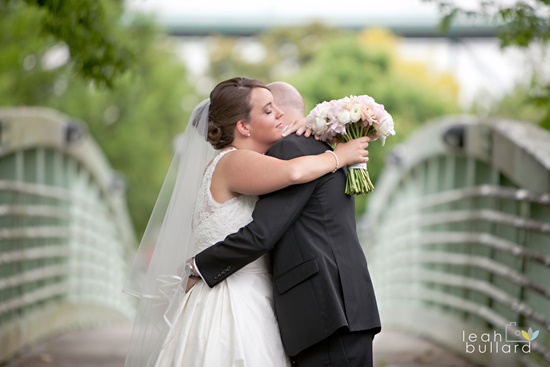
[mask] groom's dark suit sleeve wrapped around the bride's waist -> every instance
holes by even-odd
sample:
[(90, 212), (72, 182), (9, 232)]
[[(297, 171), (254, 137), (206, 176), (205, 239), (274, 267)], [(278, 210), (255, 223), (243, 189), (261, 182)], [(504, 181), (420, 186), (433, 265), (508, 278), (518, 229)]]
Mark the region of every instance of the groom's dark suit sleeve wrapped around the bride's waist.
[[(283, 139), (270, 155), (292, 159), (305, 152), (303, 144)], [(317, 184), (314, 180), (262, 196), (252, 213), (252, 222), (198, 253), (195, 262), (206, 284), (215, 286), (269, 252), (300, 215)]]

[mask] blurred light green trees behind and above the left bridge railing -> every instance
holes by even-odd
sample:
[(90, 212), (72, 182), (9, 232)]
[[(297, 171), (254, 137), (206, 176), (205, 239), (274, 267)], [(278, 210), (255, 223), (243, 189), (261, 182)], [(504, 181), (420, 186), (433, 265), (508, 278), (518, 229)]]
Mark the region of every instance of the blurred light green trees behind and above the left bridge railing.
[(41, 16), (34, 7), (0, 12), (0, 106), (48, 106), (84, 121), (126, 180), (140, 235), (170, 164), (171, 142), (199, 97), (150, 20), (128, 18), (111, 30), (140, 57), (108, 89), (77, 77), (67, 46), (37, 29)]

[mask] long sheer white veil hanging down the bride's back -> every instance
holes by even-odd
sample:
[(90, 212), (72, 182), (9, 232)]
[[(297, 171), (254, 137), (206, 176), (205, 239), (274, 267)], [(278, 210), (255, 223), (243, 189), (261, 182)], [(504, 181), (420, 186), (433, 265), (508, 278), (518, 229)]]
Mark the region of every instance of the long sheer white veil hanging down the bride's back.
[(124, 292), (139, 306), (125, 366), (152, 366), (170, 340), (173, 313), (185, 295), (183, 265), (195, 255), (192, 222), (203, 172), (216, 151), (207, 142), (210, 100), (191, 114), (137, 251)]

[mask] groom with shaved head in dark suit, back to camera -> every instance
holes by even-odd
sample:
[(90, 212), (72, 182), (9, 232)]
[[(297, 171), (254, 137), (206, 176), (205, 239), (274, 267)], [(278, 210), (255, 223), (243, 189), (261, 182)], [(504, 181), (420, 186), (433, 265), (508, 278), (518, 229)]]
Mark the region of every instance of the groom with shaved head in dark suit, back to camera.
[[(303, 118), (304, 102), (294, 87), (276, 82), (269, 88), (285, 123)], [(268, 154), (292, 159), (327, 149), (314, 137), (291, 134)], [(200, 275), (213, 287), (271, 251), (281, 338), (299, 367), (372, 366), (380, 319), (345, 182), (340, 169), (263, 195), (250, 224), (195, 257)]]

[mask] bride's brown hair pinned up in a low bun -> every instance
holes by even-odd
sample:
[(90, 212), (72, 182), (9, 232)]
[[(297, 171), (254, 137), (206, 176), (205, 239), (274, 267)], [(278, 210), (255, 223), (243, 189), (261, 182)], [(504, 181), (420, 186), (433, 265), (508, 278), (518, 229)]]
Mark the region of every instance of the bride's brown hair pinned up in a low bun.
[(256, 79), (232, 78), (216, 85), (210, 93), (208, 141), (215, 149), (223, 149), (233, 143), (237, 121), (250, 120), (250, 95), (254, 88), (268, 89)]

